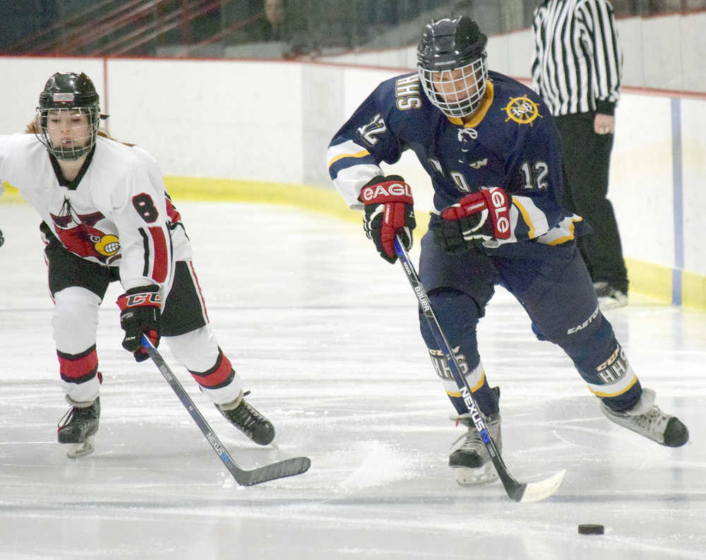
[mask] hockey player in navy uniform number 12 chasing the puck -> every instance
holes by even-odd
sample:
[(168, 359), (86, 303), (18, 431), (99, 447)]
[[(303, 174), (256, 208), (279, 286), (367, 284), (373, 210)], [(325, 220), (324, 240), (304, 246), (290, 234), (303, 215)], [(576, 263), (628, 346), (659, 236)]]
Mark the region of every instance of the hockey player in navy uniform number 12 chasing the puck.
[[(489, 385), (477, 345), (477, 323), (501, 285), (522, 304), (538, 337), (573, 360), (606, 417), (665, 446), (688, 430), (654, 405), (602, 315), (575, 238), (587, 232), (561, 208), (561, 149), (551, 113), (530, 88), (486, 68), (487, 37), (462, 16), (426, 25), (417, 73), (384, 81), (335, 134), (330, 177), (364, 230), (394, 263), (393, 240), (408, 248), (416, 225), (412, 189), (385, 177), (413, 150), (431, 178), (435, 210), (421, 239), (419, 275), (474, 398), (501, 448), (499, 388)], [(421, 335), (467, 432), (449, 465), (462, 485), (497, 477), (426, 321)], [(502, 337), (503, 333), (497, 333)], [(551, 376), (551, 371), (547, 371)]]

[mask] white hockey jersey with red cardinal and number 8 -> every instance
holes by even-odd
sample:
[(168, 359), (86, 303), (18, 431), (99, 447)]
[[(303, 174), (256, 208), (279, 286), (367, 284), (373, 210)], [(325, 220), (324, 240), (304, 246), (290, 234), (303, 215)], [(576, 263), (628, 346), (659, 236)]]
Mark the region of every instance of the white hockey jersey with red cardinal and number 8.
[(125, 290), (149, 284), (169, 290), (174, 262), (191, 259), (159, 166), (141, 148), (99, 136), (83, 176), (62, 185), (34, 134), (0, 136), (0, 183), (5, 181), (35, 207), (66, 249), (119, 266)]

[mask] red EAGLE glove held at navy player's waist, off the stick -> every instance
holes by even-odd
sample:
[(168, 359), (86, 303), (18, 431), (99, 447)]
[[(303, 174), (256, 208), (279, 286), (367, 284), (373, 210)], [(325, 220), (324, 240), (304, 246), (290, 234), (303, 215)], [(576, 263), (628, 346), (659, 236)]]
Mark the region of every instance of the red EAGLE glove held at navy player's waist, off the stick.
[(510, 239), (510, 198), (499, 186), (468, 194), (441, 212), (433, 236), (448, 253), (457, 253), (489, 239)]

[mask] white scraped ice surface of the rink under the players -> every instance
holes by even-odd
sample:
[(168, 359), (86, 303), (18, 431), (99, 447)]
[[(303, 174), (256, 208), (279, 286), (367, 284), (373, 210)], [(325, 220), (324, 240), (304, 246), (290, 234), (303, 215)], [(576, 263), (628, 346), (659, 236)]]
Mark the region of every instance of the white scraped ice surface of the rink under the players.
[[(242, 467), (308, 455), (311, 470), (234, 484), (151, 362), (121, 349), (117, 285), (100, 316), (96, 451), (66, 458), (39, 219), (0, 203), (1, 559), (706, 559), (706, 314), (634, 295), (607, 314), (642, 383), (690, 428), (669, 449), (604, 419), (568, 358), (498, 292), (479, 340), (502, 388), (505, 463), (525, 481), (568, 469), (551, 499), (515, 504), (499, 483), (455, 484), (460, 428), (414, 294), (360, 227), (284, 207), (178, 206), (220, 345), (276, 445), (246, 440), (164, 357)], [(578, 535), (579, 523), (606, 533)]]

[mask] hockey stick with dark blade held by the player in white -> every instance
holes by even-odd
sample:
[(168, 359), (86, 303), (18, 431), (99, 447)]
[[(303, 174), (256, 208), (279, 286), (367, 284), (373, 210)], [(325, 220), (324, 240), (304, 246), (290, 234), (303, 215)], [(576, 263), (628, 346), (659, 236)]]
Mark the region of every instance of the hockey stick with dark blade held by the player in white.
[(184, 387), (181, 386), (179, 380), (169, 366), (167, 362), (164, 362), (164, 358), (160, 355), (157, 348), (152, 345), (152, 342), (142, 335), (142, 345), (145, 347), (152, 362), (155, 362), (157, 369), (167, 380), (169, 386), (172, 387), (174, 393), (177, 393), (177, 397), (181, 400), (181, 404), (184, 405), (189, 414), (196, 422), (196, 425), (201, 429), (201, 432), (206, 438), (206, 441), (211, 444), (213, 451), (216, 455), (220, 457), (223, 461), (225, 467), (229, 470), (230, 474), (233, 475), (235, 481), (241, 486), (253, 486), (253, 484), (260, 484), (261, 482), (268, 482), (268, 480), (274, 480), (277, 478), (293, 477), (295, 475), (301, 475), (302, 472), (309, 470), (311, 465), (311, 460), (309, 457), (295, 457), (292, 459), (285, 459), (279, 463), (270, 463), (270, 465), (264, 465), (263, 467), (258, 467), (253, 470), (241, 469), (235, 464), (233, 458), (228, 453), (225, 446), (221, 443), (220, 439), (217, 438), (216, 434), (213, 433), (213, 429), (208, 425), (206, 419), (201, 415), (201, 412), (196, 408), (193, 400), (184, 391)]

